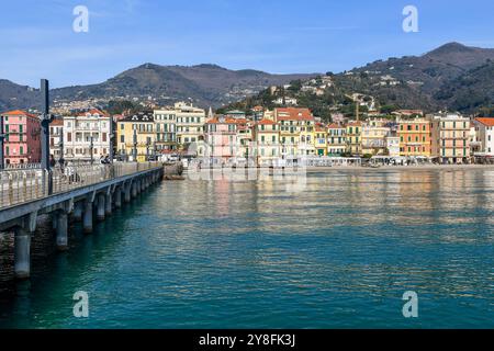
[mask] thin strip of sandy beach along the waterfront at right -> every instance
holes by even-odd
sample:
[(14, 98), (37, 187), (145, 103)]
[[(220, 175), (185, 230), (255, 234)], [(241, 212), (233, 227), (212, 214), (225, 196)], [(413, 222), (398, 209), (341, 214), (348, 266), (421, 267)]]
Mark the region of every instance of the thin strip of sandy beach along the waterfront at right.
[(333, 171), (351, 171), (351, 172), (379, 172), (379, 171), (424, 171), (424, 170), (491, 170), (494, 171), (494, 165), (420, 165), (420, 166), (381, 166), (379, 168), (371, 167), (307, 167), (308, 172), (333, 172)]

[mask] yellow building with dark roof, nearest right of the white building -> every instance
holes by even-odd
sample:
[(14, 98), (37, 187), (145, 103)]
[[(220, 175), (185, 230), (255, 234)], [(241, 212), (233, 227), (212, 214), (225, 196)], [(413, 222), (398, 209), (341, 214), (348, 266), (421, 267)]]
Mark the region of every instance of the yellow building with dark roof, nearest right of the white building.
[(121, 159), (137, 159), (138, 162), (145, 162), (155, 154), (155, 148), (156, 131), (153, 114), (138, 113), (117, 122), (116, 152)]

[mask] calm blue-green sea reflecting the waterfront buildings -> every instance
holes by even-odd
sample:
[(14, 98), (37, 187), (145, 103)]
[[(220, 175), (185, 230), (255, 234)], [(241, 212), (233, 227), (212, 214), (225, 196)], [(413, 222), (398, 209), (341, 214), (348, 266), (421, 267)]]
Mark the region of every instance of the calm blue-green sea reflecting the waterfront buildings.
[[(0, 238), (0, 327), (494, 328), (494, 171), (315, 172), (162, 182), (56, 253), (30, 282)], [(72, 295), (89, 294), (89, 318)], [(418, 294), (418, 318), (402, 315)]]

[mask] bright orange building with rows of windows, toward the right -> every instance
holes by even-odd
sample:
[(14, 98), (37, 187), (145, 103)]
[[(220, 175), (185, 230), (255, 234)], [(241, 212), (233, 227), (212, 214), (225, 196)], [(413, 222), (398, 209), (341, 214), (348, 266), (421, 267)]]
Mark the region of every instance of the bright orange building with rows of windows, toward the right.
[(398, 122), (400, 156), (430, 157), (430, 122), (426, 118)]

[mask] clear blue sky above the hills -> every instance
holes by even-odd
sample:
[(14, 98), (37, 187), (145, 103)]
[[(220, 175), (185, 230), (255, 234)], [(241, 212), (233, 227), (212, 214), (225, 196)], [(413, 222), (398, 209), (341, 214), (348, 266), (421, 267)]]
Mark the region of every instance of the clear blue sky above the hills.
[[(89, 9), (89, 33), (72, 10)], [(402, 30), (405, 5), (418, 33)], [(0, 79), (98, 83), (144, 63), (343, 71), (447, 42), (494, 47), (492, 0), (2, 0)]]

